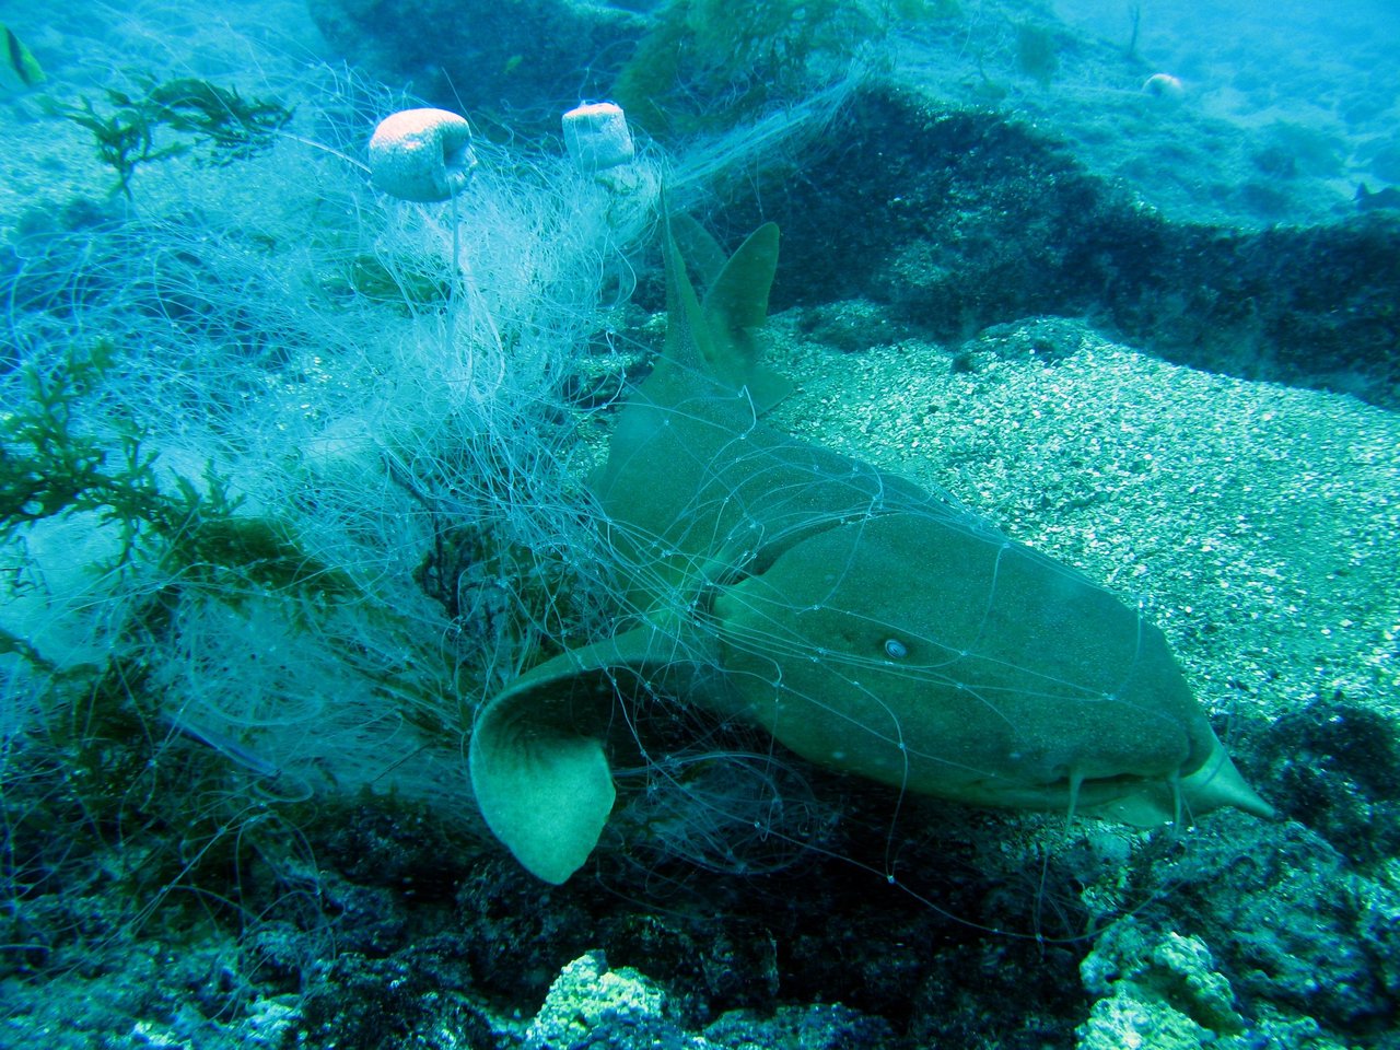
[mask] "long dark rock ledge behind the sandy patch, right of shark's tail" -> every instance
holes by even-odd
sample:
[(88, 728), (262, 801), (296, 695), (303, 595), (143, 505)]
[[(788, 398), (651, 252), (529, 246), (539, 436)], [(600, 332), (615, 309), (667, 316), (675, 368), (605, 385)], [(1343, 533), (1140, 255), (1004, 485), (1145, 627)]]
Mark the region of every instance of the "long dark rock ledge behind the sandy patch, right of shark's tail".
[[(783, 214), (774, 309), (869, 298), (939, 340), (1036, 314), (1089, 315), (1193, 368), (1400, 405), (1400, 216), (1260, 231), (1175, 221), (1002, 113), (872, 85), (801, 179), (735, 192), (735, 224)], [(1267, 188), (1266, 188), (1267, 189)]]

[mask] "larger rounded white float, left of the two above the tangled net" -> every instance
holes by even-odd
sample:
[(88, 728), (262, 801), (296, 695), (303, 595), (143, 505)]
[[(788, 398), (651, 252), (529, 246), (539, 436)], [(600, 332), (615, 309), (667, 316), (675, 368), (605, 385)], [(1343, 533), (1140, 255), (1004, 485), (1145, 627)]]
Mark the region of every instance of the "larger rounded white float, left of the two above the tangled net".
[(371, 179), (399, 200), (456, 196), (475, 167), (472, 127), (447, 109), (400, 109), (384, 118), (370, 139)]

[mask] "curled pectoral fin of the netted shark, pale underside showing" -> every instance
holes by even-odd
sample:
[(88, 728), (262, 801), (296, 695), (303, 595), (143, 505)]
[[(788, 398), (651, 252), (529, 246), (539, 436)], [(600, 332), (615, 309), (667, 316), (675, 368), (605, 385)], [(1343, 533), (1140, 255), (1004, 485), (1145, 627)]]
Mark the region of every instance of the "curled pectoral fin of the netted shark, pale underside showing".
[(540, 664), (496, 696), (472, 729), (468, 769), (487, 826), (531, 874), (560, 883), (598, 844), (616, 791), (603, 741), (626, 687), (652, 671), (643, 627)]

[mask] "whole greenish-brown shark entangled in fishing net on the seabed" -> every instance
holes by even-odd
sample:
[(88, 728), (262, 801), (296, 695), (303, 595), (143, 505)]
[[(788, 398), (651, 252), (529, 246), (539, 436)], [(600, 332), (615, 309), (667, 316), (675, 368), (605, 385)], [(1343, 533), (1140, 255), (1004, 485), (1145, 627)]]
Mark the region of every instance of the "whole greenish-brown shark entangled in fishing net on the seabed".
[(1235, 770), (1162, 634), (946, 497), (759, 421), (777, 228), (704, 304), (668, 237), (666, 347), (594, 479), (636, 613), (484, 708), (470, 770), (491, 830), (563, 882), (615, 791), (617, 690), (762, 725), (811, 762), (974, 805), (1138, 825), (1233, 805)]

